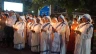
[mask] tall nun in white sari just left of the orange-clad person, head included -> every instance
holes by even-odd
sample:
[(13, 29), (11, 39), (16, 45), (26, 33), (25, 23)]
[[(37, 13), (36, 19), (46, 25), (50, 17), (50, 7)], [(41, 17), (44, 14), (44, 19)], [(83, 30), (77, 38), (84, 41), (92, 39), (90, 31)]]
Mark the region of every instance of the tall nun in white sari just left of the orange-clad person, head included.
[(69, 41), (70, 35), (70, 29), (64, 18), (63, 15), (58, 17), (58, 24), (55, 29), (60, 34), (60, 54), (66, 54), (66, 43)]

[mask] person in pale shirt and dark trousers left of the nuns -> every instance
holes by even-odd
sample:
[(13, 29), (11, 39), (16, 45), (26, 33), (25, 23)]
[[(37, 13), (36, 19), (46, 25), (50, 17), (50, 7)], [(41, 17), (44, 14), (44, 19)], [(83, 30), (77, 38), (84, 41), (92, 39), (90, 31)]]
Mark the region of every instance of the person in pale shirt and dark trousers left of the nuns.
[(15, 24), (17, 18), (13, 11), (9, 12), (9, 17), (6, 19), (6, 26), (4, 28), (7, 46), (13, 46), (13, 36), (14, 36), (14, 29), (13, 25)]

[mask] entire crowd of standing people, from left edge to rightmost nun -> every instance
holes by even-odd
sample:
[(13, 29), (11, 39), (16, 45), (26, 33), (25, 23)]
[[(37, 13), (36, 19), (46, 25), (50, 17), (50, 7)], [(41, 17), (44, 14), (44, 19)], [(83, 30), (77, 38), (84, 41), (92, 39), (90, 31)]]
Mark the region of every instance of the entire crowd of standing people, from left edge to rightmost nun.
[[(72, 21), (72, 20), (71, 20)], [(7, 46), (22, 50), (25, 43), (32, 52), (40, 54), (90, 54), (93, 34), (92, 19), (84, 14), (71, 25), (61, 14), (58, 17), (33, 17), (31, 14), (19, 16), (13, 11), (1, 12), (0, 25), (5, 35), (0, 39)]]

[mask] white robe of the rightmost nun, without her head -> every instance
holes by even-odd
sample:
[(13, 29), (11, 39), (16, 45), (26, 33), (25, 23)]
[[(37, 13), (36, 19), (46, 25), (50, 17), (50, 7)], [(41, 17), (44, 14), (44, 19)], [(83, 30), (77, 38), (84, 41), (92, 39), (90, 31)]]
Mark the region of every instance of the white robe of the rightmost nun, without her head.
[[(82, 26), (83, 25), (83, 26)], [(91, 38), (93, 34), (92, 24), (81, 23), (77, 30), (81, 32), (76, 34), (74, 54), (91, 54)]]

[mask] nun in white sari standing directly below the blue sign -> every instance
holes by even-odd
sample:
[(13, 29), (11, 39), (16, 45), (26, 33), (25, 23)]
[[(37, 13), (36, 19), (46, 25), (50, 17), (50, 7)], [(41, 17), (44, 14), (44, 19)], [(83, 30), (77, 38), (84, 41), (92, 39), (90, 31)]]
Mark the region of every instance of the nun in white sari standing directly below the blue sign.
[(50, 17), (45, 17), (45, 24), (41, 29), (41, 38), (40, 38), (40, 54), (49, 54), (50, 48), (50, 35), (52, 33), (52, 26), (50, 24)]

